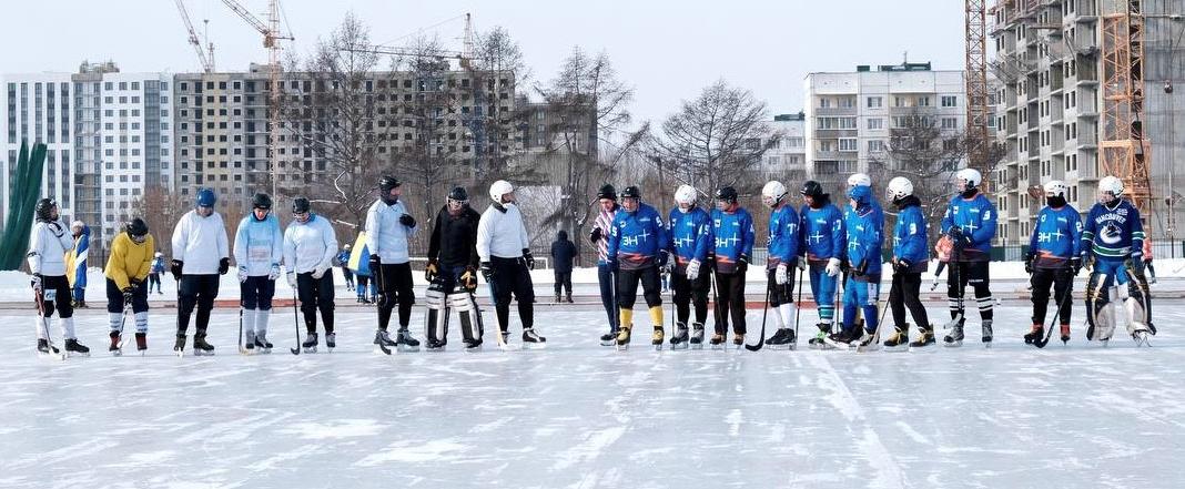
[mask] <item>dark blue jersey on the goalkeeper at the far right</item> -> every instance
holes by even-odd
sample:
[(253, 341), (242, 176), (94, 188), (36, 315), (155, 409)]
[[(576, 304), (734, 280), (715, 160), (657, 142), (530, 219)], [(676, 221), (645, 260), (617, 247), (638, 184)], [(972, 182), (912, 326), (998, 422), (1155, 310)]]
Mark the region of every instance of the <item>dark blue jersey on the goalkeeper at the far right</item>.
[(1114, 207), (1095, 204), (1083, 225), (1080, 250), (1093, 252), (1100, 259), (1126, 259), (1144, 251), (1144, 225), (1140, 211), (1120, 199)]

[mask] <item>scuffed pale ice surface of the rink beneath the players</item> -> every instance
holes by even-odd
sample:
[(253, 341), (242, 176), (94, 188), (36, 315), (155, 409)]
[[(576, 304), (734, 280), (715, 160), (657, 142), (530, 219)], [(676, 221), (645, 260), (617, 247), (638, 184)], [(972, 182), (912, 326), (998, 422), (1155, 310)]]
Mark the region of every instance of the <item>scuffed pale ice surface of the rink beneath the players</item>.
[(1003, 307), (991, 350), (615, 352), (584, 308), (540, 310), (545, 350), (465, 353), (454, 330), (393, 356), (370, 311), (339, 316), (338, 352), (293, 356), (287, 310), (275, 353), (241, 356), (218, 310), (201, 359), (169, 354), (155, 311), (148, 356), (108, 356), (87, 313), (95, 355), (65, 362), (7, 313), (0, 487), (1178, 488), (1185, 305), (1155, 310), (1148, 349), (1087, 345), (1075, 317), (1038, 350), (1027, 308)]

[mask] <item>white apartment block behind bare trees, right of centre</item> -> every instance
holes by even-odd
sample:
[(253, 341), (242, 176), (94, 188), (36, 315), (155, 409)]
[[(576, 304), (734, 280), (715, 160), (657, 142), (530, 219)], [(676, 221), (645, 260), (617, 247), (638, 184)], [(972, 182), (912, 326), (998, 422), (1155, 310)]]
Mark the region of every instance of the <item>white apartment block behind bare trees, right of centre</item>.
[(944, 133), (962, 133), (967, 97), (962, 70), (929, 63), (857, 66), (806, 77), (806, 174), (835, 194), (847, 176), (885, 161), (892, 129), (925, 117)]

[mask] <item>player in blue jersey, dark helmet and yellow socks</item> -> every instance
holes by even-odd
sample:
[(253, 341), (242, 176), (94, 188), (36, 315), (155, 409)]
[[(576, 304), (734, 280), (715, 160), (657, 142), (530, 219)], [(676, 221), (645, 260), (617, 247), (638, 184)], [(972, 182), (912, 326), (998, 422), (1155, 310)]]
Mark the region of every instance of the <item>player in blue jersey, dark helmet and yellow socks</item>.
[(621, 311), (617, 329), (617, 347), (628, 348), (634, 329), (634, 301), (638, 283), (642, 284), (642, 297), (649, 308), (654, 333), (651, 345), (662, 348), (662, 291), (659, 269), (670, 259), (668, 236), (662, 215), (654, 207), (642, 202), (642, 193), (636, 186), (621, 191), (621, 212), (613, 218), (609, 229), (609, 265), (617, 275), (617, 309)]

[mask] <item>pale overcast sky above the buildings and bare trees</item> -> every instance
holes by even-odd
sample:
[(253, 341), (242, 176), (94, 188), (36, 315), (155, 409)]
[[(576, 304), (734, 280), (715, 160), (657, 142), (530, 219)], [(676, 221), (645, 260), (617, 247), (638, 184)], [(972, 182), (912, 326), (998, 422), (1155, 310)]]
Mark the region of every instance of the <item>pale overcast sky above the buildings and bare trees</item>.
[[(239, 0), (261, 18), (265, 0)], [(201, 31), (210, 19), (218, 70), (265, 62), (261, 37), (222, 0), (185, 0)], [(299, 53), (358, 14), (377, 43), (473, 13), (475, 27), (501, 25), (518, 40), (532, 83), (549, 82), (572, 46), (607, 52), (635, 89), (636, 121), (661, 121), (718, 78), (751, 89), (770, 115), (802, 107), (812, 71), (858, 64), (963, 65), (960, 0), (287, 0)], [(118, 6), (118, 8), (116, 8)], [(83, 59), (113, 59), (121, 71), (199, 71), (181, 18), (168, 0), (0, 2), (0, 72), (75, 71)], [(460, 49), (463, 21), (431, 28)], [(286, 45), (286, 46), (288, 46)]]

